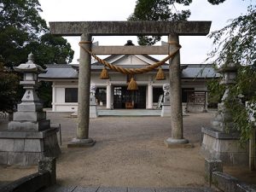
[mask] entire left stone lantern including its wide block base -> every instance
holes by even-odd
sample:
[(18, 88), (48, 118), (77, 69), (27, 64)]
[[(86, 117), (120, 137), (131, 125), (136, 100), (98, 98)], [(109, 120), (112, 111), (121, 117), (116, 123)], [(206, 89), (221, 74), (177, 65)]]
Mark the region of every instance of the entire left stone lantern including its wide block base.
[(58, 128), (50, 127), (36, 93), (38, 74), (45, 73), (44, 69), (34, 63), (32, 54), (26, 63), (14, 68), (23, 73), (20, 84), (26, 91), (8, 130), (0, 131), (0, 164), (35, 165), (44, 157), (61, 154), (56, 136)]

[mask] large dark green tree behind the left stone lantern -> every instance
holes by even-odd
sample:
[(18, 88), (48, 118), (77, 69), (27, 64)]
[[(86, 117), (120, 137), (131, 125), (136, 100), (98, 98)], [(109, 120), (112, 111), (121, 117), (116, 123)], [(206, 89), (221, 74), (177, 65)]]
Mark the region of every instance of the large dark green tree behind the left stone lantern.
[[(39, 15), (41, 11), (38, 0), (0, 0), (0, 57), (5, 67), (25, 63), (30, 52), (35, 57), (35, 63), (42, 67), (44, 64), (66, 64), (73, 60), (74, 52), (70, 44), (66, 39), (49, 33), (46, 21)], [(41, 90), (46, 90), (43, 98)], [(50, 103), (50, 91), (49, 83), (43, 83), (39, 88), (39, 97), (44, 103)], [(1, 106), (2, 102), (0, 100)]]

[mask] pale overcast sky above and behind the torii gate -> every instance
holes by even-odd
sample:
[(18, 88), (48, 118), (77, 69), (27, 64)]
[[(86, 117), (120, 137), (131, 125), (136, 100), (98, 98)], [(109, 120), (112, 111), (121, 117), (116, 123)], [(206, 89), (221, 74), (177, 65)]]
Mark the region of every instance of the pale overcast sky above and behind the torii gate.
[[(219, 5), (211, 5), (207, 0), (193, 0), (189, 7), (189, 20), (212, 20), (211, 32), (218, 30), (242, 13), (246, 13), (251, 0), (226, 0)], [(39, 0), (44, 20), (49, 21), (93, 21), (127, 20), (135, 8), (136, 0)], [(182, 6), (176, 5), (177, 9)], [(79, 37), (64, 37), (75, 51), (73, 63), (79, 59)], [(137, 44), (137, 37), (93, 37), (100, 45), (124, 45), (128, 39)], [(166, 37), (162, 40), (166, 41)], [(212, 39), (207, 36), (180, 37), (181, 62), (204, 63), (212, 49)], [(163, 56), (164, 57), (164, 56)], [(159, 59), (162, 57), (158, 57)]]

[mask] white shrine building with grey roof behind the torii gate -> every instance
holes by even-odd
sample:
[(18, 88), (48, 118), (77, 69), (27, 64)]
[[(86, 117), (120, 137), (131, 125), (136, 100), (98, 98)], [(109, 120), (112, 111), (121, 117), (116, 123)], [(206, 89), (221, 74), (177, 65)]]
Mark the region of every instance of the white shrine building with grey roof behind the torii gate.
[[(159, 61), (149, 55), (110, 55), (105, 61), (119, 67), (141, 68)], [(79, 64), (46, 65), (47, 73), (39, 75), (40, 80), (52, 82), (52, 111), (76, 112), (78, 110)], [(137, 90), (127, 90), (131, 75), (108, 70), (109, 79), (100, 79), (104, 67), (100, 62), (92, 62), (90, 84), (96, 85), (98, 108), (157, 108), (163, 84), (169, 83), (169, 64), (162, 65), (166, 78), (156, 80), (157, 69), (143, 74), (135, 74)], [(189, 112), (207, 110), (207, 79), (218, 76), (212, 65), (182, 64), (182, 102)], [(188, 106), (188, 103), (189, 106)], [(191, 105), (194, 107), (190, 108)]]

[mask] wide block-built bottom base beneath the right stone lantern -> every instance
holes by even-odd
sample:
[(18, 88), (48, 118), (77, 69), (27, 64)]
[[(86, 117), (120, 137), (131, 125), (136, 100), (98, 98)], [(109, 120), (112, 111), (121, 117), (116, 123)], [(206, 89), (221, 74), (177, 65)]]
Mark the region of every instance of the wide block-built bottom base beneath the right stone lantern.
[(224, 165), (248, 165), (248, 147), (241, 146), (239, 134), (202, 128), (201, 154), (208, 159), (222, 160)]

